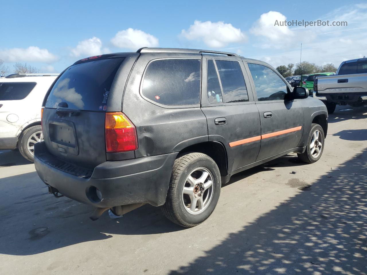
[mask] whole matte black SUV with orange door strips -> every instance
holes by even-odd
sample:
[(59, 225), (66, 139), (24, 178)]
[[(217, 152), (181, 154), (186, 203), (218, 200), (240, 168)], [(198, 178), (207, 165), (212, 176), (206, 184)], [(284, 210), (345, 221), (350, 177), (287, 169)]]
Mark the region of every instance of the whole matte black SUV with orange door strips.
[(323, 152), (328, 113), (265, 62), (141, 48), (81, 59), (43, 102), (34, 163), (49, 192), (119, 216), (143, 203), (203, 222), (231, 175), (291, 152)]

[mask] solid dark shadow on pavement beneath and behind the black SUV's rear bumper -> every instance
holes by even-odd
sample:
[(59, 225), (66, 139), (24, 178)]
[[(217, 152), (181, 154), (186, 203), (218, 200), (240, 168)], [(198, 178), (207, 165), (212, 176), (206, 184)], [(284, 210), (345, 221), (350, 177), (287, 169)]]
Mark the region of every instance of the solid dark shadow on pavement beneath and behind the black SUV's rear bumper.
[(0, 254), (32, 255), (112, 238), (111, 234), (146, 235), (185, 229), (150, 205), (120, 219), (110, 219), (105, 212), (91, 221), (92, 206), (48, 194), (36, 172), (1, 178), (0, 192)]

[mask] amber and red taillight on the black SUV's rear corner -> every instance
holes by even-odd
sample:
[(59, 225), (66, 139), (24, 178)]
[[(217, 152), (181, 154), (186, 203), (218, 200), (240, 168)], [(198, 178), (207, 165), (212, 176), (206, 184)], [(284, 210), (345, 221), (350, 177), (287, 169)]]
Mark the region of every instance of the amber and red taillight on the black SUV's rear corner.
[(137, 132), (127, 116), (121, 112), (106, 113), (107, 153), (126, 152), (137, 148)]

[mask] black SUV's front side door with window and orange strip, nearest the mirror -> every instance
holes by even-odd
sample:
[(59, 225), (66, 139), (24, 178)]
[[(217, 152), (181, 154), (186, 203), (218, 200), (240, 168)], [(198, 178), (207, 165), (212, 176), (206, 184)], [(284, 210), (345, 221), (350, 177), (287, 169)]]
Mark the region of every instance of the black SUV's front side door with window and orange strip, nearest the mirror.
[[(299, 100), (288, 100), (288, 85), (270, 67), (247, 63), (261, 121), (261, 149), (257, 161), (297, 147), (304, 113)], [(287, 88), (288, 87), (288, 88)]]

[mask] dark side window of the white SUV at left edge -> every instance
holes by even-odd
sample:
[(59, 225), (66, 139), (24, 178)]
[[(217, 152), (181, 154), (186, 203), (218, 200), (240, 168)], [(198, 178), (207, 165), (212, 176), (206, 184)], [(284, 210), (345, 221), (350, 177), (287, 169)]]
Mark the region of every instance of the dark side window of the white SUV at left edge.
[(36, 82), (0, 82), (0, 100), (24, 99), (36, 84)]

